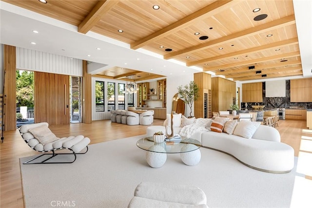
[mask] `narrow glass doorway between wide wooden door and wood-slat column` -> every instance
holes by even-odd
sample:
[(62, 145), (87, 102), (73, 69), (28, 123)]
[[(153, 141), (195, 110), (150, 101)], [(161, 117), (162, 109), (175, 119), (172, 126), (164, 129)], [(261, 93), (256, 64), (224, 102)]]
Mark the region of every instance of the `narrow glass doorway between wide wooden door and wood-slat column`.
[(81, 77), (70, 76), (70, 122), (82, 122)]

